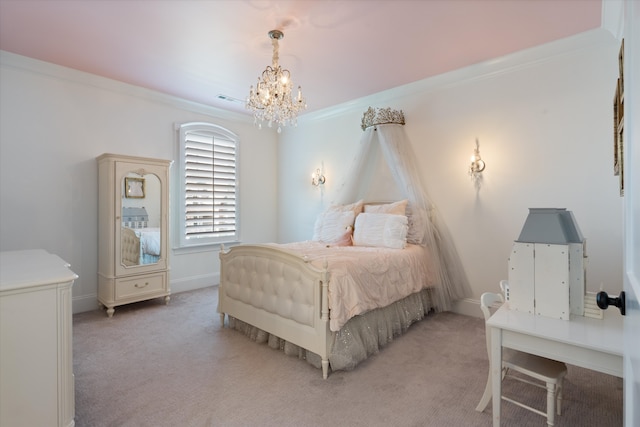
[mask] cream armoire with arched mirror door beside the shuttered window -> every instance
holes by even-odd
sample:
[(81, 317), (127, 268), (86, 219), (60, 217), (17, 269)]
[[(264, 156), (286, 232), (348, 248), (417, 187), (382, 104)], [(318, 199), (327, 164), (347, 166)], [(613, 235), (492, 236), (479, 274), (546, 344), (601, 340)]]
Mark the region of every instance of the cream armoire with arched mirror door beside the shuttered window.
[(98, 302), (169, 303), (170, 160), (103, 154), (98, 161)]

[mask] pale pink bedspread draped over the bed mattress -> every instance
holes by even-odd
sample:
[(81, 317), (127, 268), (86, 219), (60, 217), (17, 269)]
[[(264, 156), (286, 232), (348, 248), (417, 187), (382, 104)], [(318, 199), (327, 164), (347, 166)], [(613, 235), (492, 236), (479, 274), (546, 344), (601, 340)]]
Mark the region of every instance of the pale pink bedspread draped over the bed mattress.
[(329, 264), (329, 327), (338, 331), (353, 316), (384, 307), (433, 285), (428, 249), (332, 246), (314, 241), (275, 245), (306, 257), (315, 267)]

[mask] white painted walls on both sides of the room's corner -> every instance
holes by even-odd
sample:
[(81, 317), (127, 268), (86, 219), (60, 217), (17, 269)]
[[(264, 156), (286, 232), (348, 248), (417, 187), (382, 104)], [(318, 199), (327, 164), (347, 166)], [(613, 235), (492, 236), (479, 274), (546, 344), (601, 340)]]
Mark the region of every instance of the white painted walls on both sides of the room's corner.
[[(473, 288), (470, 302), (506, 277), (529, 207), (572, 210), (588, 241), (588, 288), (603, 282), (617, 294), (622, 199), (612, 173), (611, 105), (618, 48), (604, 30), (585, 33), (306, 114), (280, 136), (245, 116), (0, 52), (0, 250), (60, 255), (80, 276), (74, 311), (93, 309), (95, 157), (175, 160), (174, 124), (195, 120), (240, 136), (243, 241), (309, 239), (352, 161), (362, 113), (392, 107), (405, 112), (423, 183)], [(487, 162), (478, 192), (466, 173), (476, 136)], [(322, 164), (320, 191), (310, 175)], [(218, 274), (216, 249), (172, 253), (174, 292), (217, 283)]]

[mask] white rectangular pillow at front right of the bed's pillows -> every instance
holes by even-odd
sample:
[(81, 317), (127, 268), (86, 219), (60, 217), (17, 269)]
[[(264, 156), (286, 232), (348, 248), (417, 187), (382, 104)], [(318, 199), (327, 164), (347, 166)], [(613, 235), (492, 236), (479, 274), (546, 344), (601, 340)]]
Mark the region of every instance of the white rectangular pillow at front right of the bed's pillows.
[(408, 228), (404, 215), (361, 213), (356, 218), (353, 245), (403, 249)]

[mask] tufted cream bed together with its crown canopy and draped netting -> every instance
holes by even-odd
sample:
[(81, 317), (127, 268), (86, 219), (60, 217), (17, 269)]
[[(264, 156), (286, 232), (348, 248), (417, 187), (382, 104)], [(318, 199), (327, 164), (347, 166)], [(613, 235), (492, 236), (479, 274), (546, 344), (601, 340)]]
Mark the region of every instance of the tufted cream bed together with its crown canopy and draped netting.
[[(329, 369), (355, 368), (414, 322), (470, 295), (453, 239), (423, 189), (404, 124), (402, 111), (364, 113), (349, 173), (335, 204), (318, 215), (310, 242), (221, 249), (223, 326), (228, 317), (230, 327), (306, 359), (327, 378)], [(398, 192), (391, 197), (406, 200), (359, 200), (389, 197), (377, 195), (371, 182), (376, 157), (384, 158), (395, 181)], [(358, 251), (377, 258), (366, 267)], [(368, 279), (358, 284), (347, 259), (360, 260), (356, 270), (370, 269)], [(412, 262), (416, 270), (409, 268)], [(375, 285), (381, 292), (367, 295)]]

